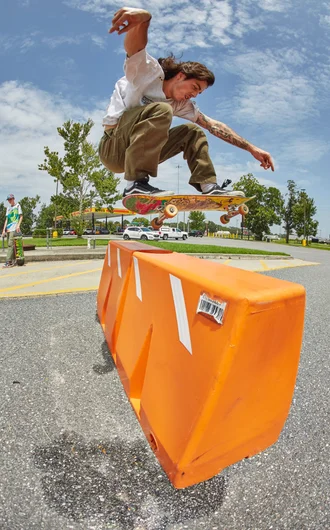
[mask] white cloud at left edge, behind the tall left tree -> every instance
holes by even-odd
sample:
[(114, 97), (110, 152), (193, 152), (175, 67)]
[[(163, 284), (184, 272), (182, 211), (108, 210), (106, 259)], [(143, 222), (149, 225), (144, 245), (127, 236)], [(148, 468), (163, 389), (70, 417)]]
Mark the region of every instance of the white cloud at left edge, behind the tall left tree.
[[(102, 135), (103, 104), (81, 109), (61, 97), (16, 81), (0, 85), (0, 173), (3, 196), (36, 194), (47, 201), (54, 193), (53, 179), (38, 170), (44, 159), (44, 146), (61, 152), (63, 141), (57, 127), (65, 120), (94, 119), (91, 141)], [(102, 110), (101, 110), (102, 109)], [(1, 197), (0, 197), (1, 201)]]

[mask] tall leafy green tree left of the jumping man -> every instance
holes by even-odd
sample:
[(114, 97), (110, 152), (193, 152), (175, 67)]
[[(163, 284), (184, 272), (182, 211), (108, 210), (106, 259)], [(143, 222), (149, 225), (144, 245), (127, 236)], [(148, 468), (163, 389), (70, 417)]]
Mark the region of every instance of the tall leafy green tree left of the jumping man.
[(72, 220), (79, 236), (84, 231), (83, 210), (92, 206), (105, 206), (111, 210), (120, 199), (117, 191), (119, 179), (102, 166), (97, 147), (87, 140), (93, 125), (92, 120), (86, 123), (66, 121), (57, 128), (64, 141), (63, 158), (46, 146), (46, 158), (38, 166), (39, 170), (47, 171), (62, 186), (62, 191), (51, 197), (57, 215), (68, 217), (73, 211), (79, 212)]

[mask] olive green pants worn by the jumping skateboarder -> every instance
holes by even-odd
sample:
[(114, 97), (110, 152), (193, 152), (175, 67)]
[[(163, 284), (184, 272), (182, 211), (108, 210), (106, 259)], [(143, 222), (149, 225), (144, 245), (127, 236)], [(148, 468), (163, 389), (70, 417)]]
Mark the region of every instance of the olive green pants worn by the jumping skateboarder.
[(189, 184), (201, 191), (201, 183), (216, 183), (205, 133), (194, 123), (171, 127), (172, 107), (151, 103), (127, 110), (117, 127), (105, 131), (99, 145), (102, 164), (125, 180), (157, 176), (158, 164), (183, 152), (191, 177)]

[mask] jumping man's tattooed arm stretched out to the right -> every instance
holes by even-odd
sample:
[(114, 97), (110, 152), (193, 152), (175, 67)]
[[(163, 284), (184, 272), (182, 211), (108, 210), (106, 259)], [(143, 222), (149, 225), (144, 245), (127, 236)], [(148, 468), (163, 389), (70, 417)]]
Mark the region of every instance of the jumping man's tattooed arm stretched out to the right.
[(245, 151), (249, 151), (256, 160), (261, 162), (261, 167), (264, 169), (271, 168), (272, 171), (274, 171), (274, 163), (270, 154), (259, 149), (259, 147), (256, 147), (247, 140), (244, 140), (244, 138), (235, 133), (235, 131), (228, 127), (228, 125), (225, 125), (221, 121), (214, 120), (213, 118), (209, 118), (208, 116), (205, 116), (205, 114), (202, 114), (202, 112), (199, 112), (196, 123), (204, 129), (207, 129), (217, 138), (220, 138), (229, 144), (236, 145), (236, 147), (240, 147), (241, 149), (245, 149)]

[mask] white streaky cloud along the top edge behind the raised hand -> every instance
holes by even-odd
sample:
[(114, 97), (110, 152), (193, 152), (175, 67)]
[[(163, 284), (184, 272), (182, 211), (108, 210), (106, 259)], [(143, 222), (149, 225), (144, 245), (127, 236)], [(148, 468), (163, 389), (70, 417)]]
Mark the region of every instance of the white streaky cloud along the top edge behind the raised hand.
[[(113, 0), (67, 0), (66, 5), (111, 21), (118, 10)], [(256, 8), (255, 0), (136, 0), (131, 7), (149, 10), (152, 24), (149, 30), (150, 48), (184, 51), (191, 47), (229, 46), (234, 39), (248, 32), (263, 29), (271, 12), (289, 10), (291, 2), (261, 0)]]

